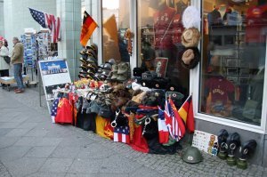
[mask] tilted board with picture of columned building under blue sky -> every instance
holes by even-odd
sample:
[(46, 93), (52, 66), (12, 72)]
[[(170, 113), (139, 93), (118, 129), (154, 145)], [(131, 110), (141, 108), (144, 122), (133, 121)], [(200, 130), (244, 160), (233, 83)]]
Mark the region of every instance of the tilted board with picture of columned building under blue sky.
[(46, 101), (53, 101), (53, 90), (71, 83), (66, 60), (39, 61)]

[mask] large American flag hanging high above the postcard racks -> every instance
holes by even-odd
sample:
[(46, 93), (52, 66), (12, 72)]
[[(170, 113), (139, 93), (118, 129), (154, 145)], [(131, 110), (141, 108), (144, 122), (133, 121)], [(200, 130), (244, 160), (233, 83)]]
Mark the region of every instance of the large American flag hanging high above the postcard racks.
[(61, 38), (61, 20), (59, 17), (55, 18), (54, 15), (39, 12), (35, 9), (28, 8), (31, 16), (38, 22), (43, 28), (49, 28), (51, 30), (51, 36), (53, 43), (58, 42)]

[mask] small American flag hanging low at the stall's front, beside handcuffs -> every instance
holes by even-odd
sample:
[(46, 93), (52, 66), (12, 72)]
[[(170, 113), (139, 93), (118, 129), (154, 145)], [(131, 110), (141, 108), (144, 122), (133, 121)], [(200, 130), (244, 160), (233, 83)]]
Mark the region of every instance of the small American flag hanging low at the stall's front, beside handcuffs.
[(130, 135), (129, 135), (129, 127), (128, 126), (120, 126), (114, 128), (114, 142), (124, 142), (126, 144), (130, 144)]

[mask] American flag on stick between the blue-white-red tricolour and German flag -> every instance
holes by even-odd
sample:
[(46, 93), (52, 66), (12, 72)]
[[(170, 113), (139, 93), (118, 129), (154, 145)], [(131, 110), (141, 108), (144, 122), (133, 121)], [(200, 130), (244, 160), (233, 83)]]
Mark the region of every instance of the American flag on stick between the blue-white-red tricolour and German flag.
[(177, 109), (174, 106), (174, 102), (171, 99), (169, 99), (169, 101), (166, 100), (165, 118), (166, 118), (166, 126), (168, 128), (171, 137), (176, 141), (180, 141), (183, 134), (185, 133), (185, 128), (184, 125), (181, 124), (181, 121), (179, 120), (179, 118), (181, 117), (179, 117)]

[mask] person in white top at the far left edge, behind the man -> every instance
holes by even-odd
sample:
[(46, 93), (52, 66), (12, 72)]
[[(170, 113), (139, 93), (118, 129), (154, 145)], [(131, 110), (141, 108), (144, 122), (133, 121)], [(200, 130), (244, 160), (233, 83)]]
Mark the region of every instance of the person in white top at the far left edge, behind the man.
[[(4, 60), (4, 57), (8, 55), (8, 48), (4, 46), (4, 41), (0, 41), (0, 76), (9, 76), (10, 64)], [(5, 86), (5, 84), (2, 84), (2, 86)]]

